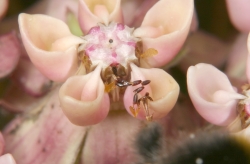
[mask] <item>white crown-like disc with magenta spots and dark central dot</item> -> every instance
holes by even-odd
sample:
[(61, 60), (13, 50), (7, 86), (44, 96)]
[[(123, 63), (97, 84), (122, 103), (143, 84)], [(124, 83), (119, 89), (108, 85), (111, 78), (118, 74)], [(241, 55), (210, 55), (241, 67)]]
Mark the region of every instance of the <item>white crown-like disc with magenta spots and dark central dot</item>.
[(92, 65), (101, 63), (105, 68), (121, 64), (127, 68), (127, 63), (137, 60), (135, 46), (139, 39), (132, 35), (132, 31), (132, 28), (114, 22), (91, 28), (83, 39), (86, 40), (85, 52)]

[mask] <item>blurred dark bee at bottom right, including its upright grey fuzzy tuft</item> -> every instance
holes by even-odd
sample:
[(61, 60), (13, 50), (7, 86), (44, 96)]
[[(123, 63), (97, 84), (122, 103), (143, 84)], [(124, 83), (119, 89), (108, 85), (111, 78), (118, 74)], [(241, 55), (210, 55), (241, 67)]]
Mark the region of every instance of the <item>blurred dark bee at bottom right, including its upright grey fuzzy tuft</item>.
[(249, 140), (225, 132), (207, 132), (186, 139), (168, 155), (159, 124), (148, 124), (136, 139), (137, 164), (250, 164)]

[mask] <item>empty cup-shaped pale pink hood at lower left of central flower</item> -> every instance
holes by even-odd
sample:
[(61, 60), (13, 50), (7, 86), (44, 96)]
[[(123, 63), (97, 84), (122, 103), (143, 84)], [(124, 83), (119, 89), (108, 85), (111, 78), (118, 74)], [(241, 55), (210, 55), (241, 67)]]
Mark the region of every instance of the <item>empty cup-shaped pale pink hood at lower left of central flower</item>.
[(61, 107), (69, 120), (81, 126), (97, 124), (106, 118), (110, 102), (104, 93), (101, 67), (84, 76), (73, 76), (61, 87)]

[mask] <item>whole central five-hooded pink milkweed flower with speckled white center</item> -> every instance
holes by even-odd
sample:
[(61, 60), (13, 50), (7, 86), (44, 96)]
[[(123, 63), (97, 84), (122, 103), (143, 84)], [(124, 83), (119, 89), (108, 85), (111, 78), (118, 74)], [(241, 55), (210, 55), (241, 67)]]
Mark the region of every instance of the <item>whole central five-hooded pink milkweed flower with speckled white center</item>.
[[(179, 86), (154, 67), (165, 65), (179, 51), (192, 11), (192, 0), (162, 0), (132, 29), (123, 22), (119, 0), (80, 0), (78, 20), (84, 36), (71, 34), (64, 22), (45, 15), (21, 14), (19, 26), (34, 65), (49, 79), (64, 82), (59, 98), (65, 115), (84, 126), (103, 120), (110, 97), (117, 101), (123, 94), (127, 111), (140, 119), (159, 119), (172, 109)], [(137, 80), (139, 87), (125, 88)]]

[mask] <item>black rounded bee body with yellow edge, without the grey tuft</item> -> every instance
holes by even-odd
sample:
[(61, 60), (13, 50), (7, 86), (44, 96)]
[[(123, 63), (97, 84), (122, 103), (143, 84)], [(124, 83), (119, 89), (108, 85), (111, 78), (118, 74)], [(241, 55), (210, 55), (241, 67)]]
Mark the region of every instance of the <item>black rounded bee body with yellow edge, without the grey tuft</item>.
[(166, 164), (249, 164), (250, 145), (245, 138), (223, 132), (197, 134), (176, 148)]

